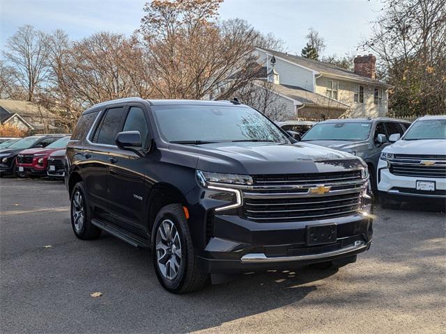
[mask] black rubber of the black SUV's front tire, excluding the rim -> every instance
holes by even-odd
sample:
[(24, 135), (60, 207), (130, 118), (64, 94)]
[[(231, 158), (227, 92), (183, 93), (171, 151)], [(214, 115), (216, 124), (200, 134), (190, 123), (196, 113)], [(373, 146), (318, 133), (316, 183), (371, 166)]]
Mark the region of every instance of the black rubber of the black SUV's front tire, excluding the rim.
[[(158, 263), (158, 255), (160, 255), (161, 258), (163, 258), (164, 255), (171, 257), (174, 256), (172, 255), (173, 253), (167, 253), (164, 248), (158, 248), (157, 250), (157, 233), (159, 232), (160, 228), (162, 229), (163, 222), (169, 222), (169, 224), (173, 223), (180, 240), (180, 265), (176, 276), (171, 279), (167, 278), (165, 273), (162, 273), (162, 264)], [(174, 252), (173, 249), (174, 248), (169, 248), (168, 251)], [(202, 289), (206, 283), (208, 283), (209, 275), (202, 273), (198, 269), (197, 255), (195, 255), (194, 246), (192, 244), (189, 225), (187, 225), (187, 219), (183, 212), (183, 206), (180, 204), (166, 205), (160, 209), (160, 212), (158, 212), (152, 228), (152, 257), (153, 267), (155, 268), (157, 278), (164, 289), (167, 289), (169, 292), (173, 292), (174, 294), (194, 292)], [(167, 269), (164, 268), (164, 270)]]

